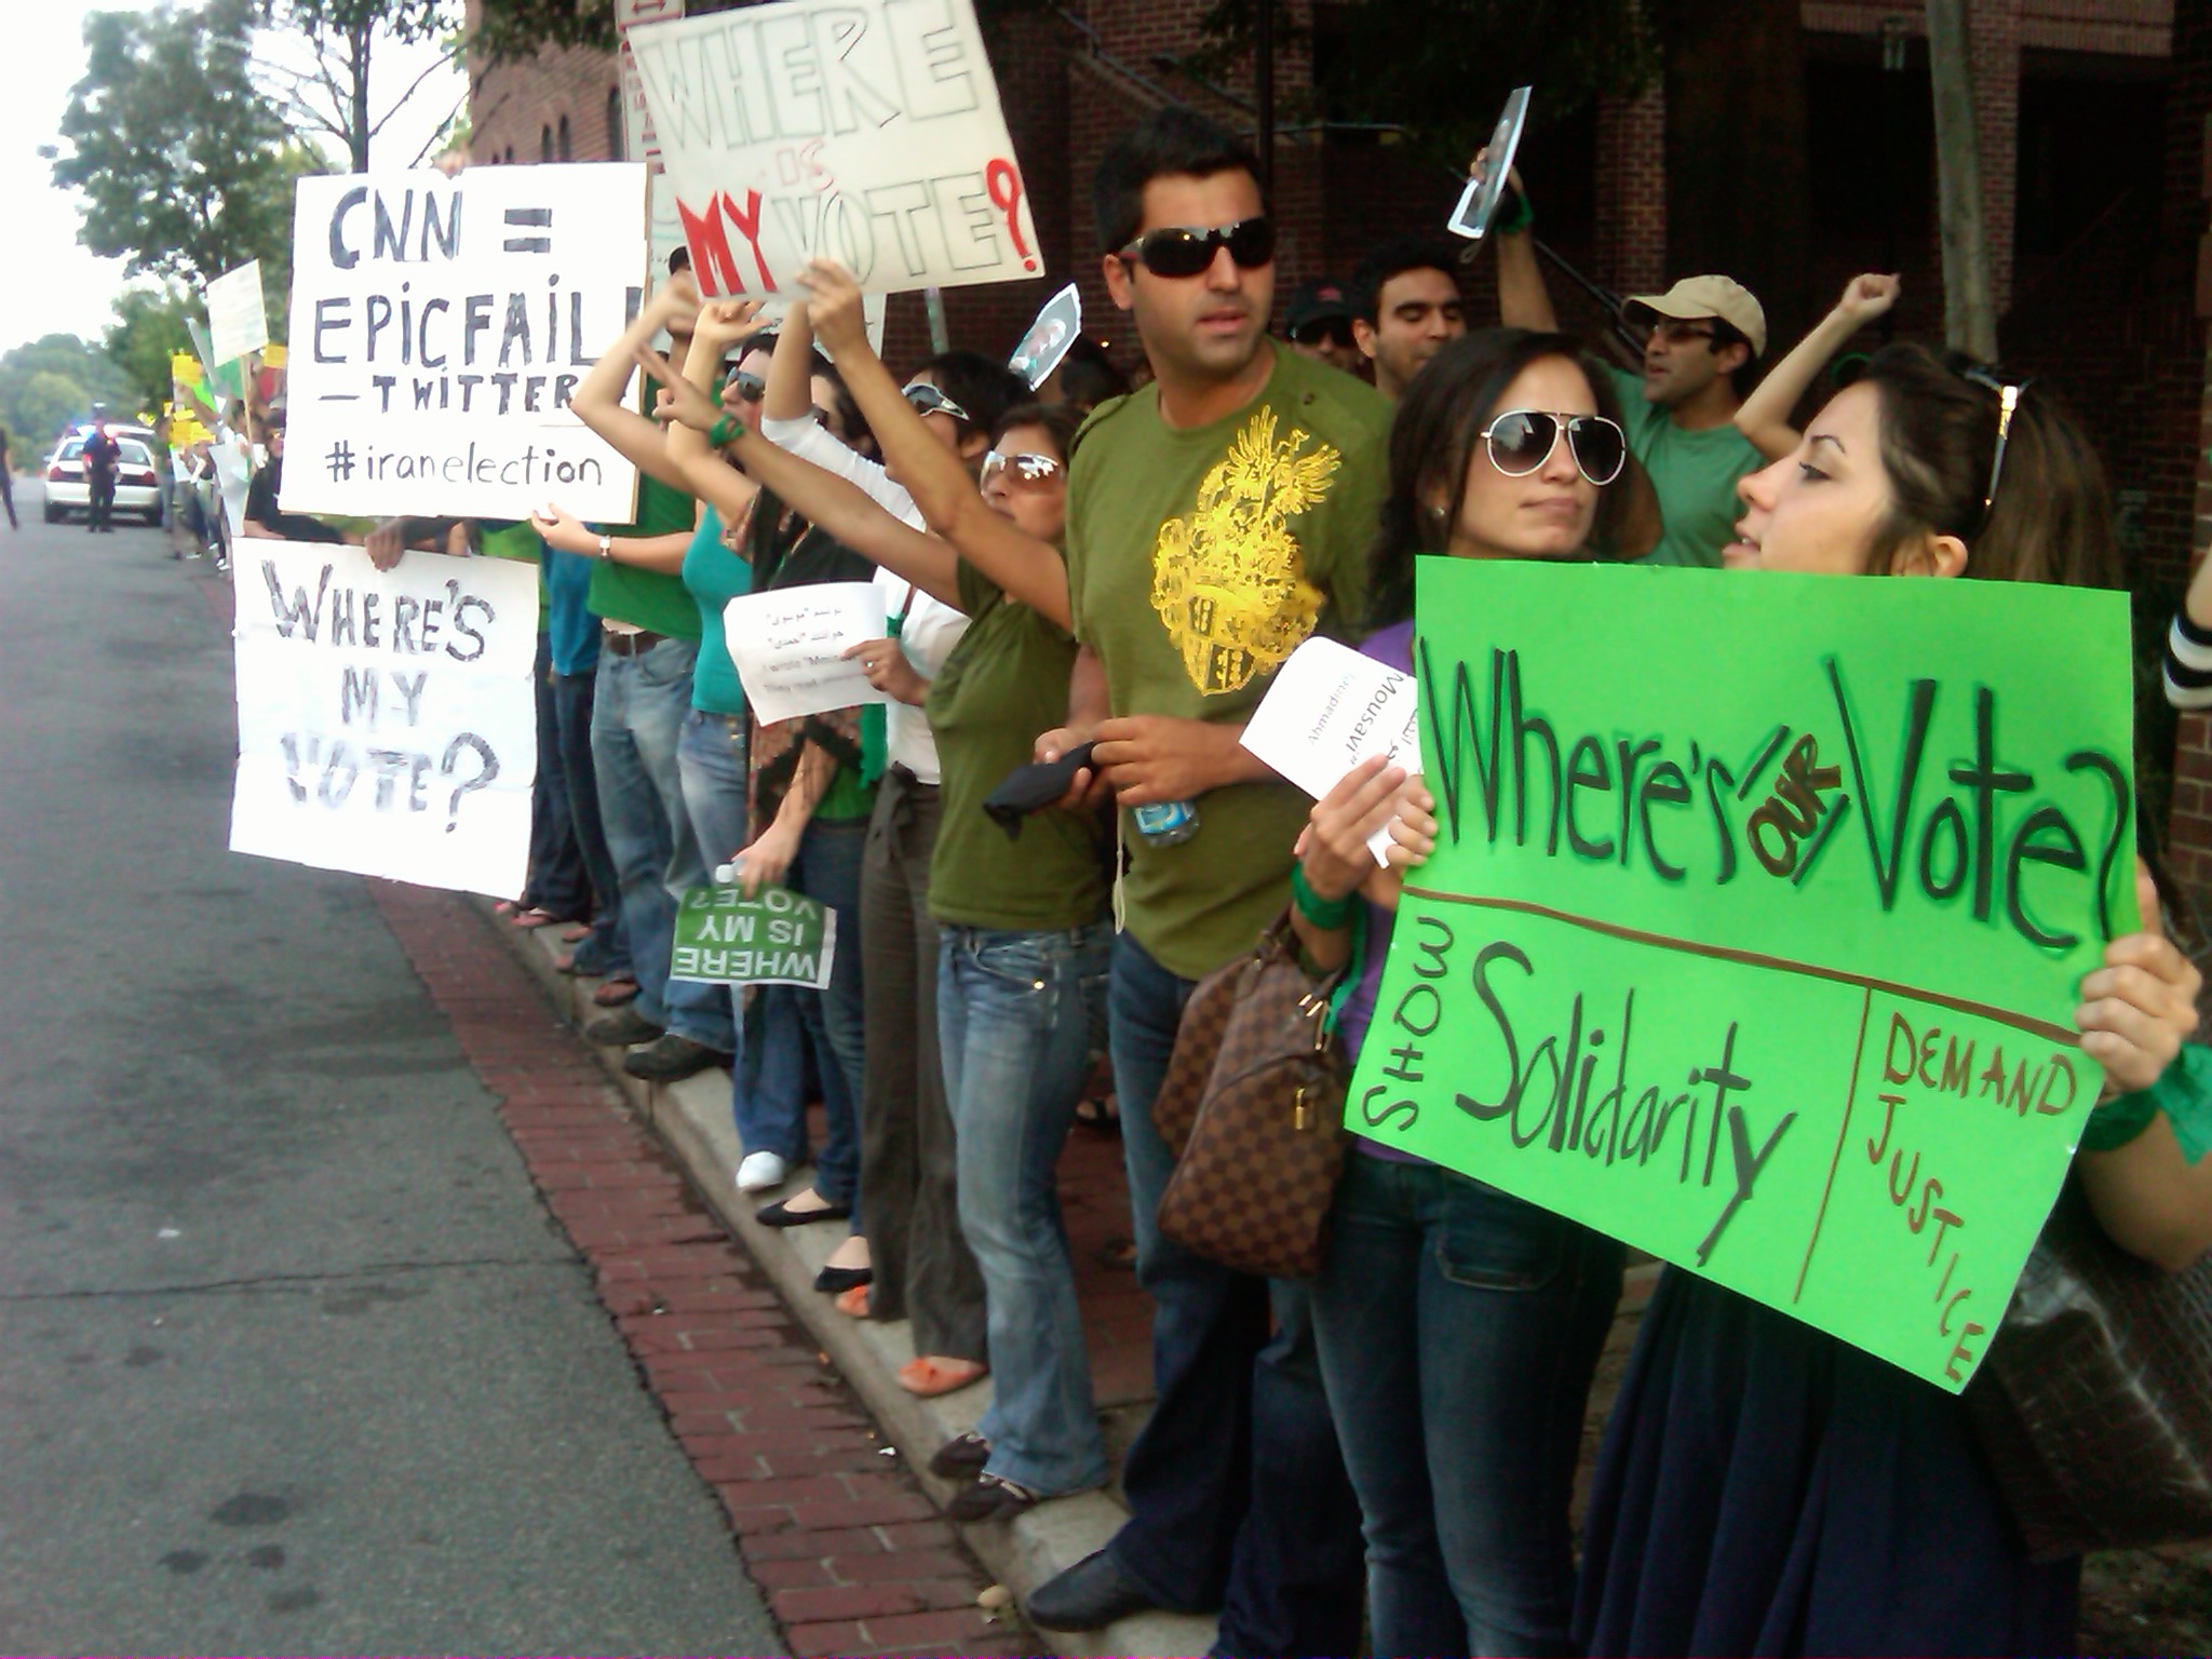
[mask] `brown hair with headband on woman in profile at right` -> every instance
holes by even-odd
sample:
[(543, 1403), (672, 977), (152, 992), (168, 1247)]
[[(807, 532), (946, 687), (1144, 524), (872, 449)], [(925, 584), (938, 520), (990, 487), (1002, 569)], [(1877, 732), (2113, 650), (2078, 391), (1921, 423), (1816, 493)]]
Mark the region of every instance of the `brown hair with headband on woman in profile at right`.
[(1882, 471), (1896, 495), (1871, 571), (1891, 568), (1909, 535), (1936, 531), (1966, 544), (1969, 577), (2124, 586), (2104, 465), (2048, 385), (2020, 394), (1989, 495), (2004, 376), (1898, 343), (1876, 352), (1860, 380), (1880, 398)]

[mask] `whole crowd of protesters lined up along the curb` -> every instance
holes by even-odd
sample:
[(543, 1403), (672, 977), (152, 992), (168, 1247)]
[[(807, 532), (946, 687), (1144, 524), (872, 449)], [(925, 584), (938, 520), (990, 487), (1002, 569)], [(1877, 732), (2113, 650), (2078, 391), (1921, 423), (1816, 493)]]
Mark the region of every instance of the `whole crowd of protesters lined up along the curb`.
[[(1239, 1655), (2066, 1648), (2079, 1562), (2028, 1557), (1958, 1398), (1679, 1270), (1577, 1562), (1621, 1243), (1356, 1141), (1323, 1272), (1252, 1279), (1161, 1237), (1152, 1104), (1194, 984), (1285, 905), (1314, 971), (1347, 967), (1356, 1046), (1398, 883), (1438, 834), (1418, 776), (1374, 761), (1314, 803), (1239, 745), (1303, 637), (1407, 668), (1416, 555), (2117, 586), (2077, 427), (2044, 387), (1889, 345), (1796, 431), (1887, 276), (1763, 378), (1759, 301), (1686, 276), (1628, 301), (1641, 361), (1608, 367), (1557, 332), (1526, 195), (1491, 239), (1500, 325), (1471, 327), (1455, 248), (1407, 239), (1303, 285), (1276, 341), (1261, 170), (1183, 111), (1113, 144), (1093, 212), (1135, 392), (1088, 343), (1042, 387), (969, 349), (894, 372), (841, 268), (810, 265), (768, 325), (701, 301), (679, 259), (573, 398), (641, 471), (633, 524), (549, 502), (367, 538), (387, 566), (542, 564), (511, 925), (564, 929), (604, 1006), (588, 1035), (628, 1073), (728, 1066), (730, 1177), (763, 1223), (841, 1232), (818, 1290), (911, 1321), (907, 1389), (989, 1378), (978, 1429), (933, 1458), (962, 1522), (1108, 1478), (1055, 1197), (1108, 1051), (1157, 1402), (1121, 1464), (1128, 1522), (1029, 1597), (1044, 1628), (1219, 1610)], [(243, 533), (299, 535), (274, 509), (281, 427), (265, 445)], [(1276, 467), (1303, 469), (1290, 507)], [(883, 588), (887, 635), (847, 655), (889, 701), (761, 721), (723, 606), (823, 582)], [(2168, 681), (2212, 703), (2199, 588)], [(1068, 794), (1009, 841), (984, 796), (1077, 745)], [(670, 978), (679, 896), (723, 865), (836, 911), (825, 989)], [(2143, 931), (2081, 984), (2106, 1104), (2079, 1175), (2119, 1245), (2179, 1267), (2212, 1245), (2212, 1099), (2177, 1084), (2199, 975), (2139, 887)]]

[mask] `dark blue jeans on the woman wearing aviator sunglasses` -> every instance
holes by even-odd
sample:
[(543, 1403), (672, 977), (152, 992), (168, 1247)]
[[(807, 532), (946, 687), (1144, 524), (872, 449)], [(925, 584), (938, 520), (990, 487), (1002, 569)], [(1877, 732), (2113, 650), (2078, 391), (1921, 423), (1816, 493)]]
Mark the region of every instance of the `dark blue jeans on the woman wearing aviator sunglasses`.
[(1314, 1332), (1376, 1652), (1575, 1652), (1566, 1511), (1624, 1254), (1453, 1170), (1345, 1159)]

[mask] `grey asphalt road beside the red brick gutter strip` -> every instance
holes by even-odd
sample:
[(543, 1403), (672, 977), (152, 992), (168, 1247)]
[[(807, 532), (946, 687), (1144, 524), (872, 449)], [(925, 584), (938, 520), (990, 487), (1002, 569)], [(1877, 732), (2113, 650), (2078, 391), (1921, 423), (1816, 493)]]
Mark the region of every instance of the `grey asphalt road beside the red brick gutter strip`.
[(0, 1652), (768, 1652), (352, 876), (226, 852), (159, 531), (0, 526)]

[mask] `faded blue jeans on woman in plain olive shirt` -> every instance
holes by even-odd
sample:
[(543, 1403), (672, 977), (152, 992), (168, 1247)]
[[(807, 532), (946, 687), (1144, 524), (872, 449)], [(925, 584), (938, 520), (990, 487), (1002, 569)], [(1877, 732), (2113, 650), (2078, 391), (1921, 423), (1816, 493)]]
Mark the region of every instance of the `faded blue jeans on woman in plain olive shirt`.
[(960, 1230), (982, 1270), (989, 1473), (1060, 1495), (1106, 1484), (1084, 1316), (1053, 1170), (1091, 1073), (1110, 931), (940, 927), (938, 1046), (960, 1159)]

